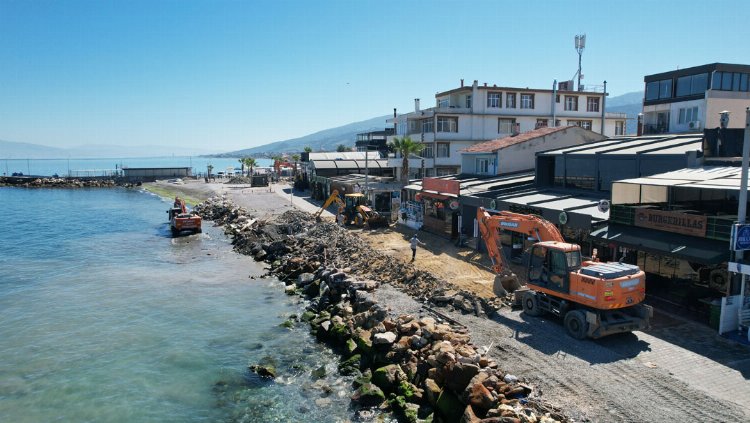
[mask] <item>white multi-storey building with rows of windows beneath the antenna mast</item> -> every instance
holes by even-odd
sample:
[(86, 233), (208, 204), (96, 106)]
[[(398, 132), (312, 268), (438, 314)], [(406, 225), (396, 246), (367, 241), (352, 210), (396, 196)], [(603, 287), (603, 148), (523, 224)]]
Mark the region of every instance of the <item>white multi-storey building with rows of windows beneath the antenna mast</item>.
[[(424, 144), (420, 158), (409, 161), (410, 174), (442, 176), (460, 173), (459, 151), (479, 142), (550, 126), (601, 133), (603, 97), (601, 92), (480, 86), (477, 81), (464, 86), (462, 80), (459, 88), (436, 94), (435, 107), (422, 110), (416, 99), (414, 112), (389, 121), (397, 137)], [(623, 135), (625, 119), (624, 113), (606, 113), (604, 134)], [(389, 165), (401, 167), (401, 159), (392, 158)]]

